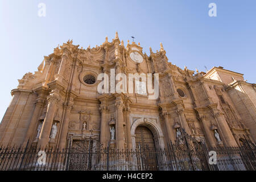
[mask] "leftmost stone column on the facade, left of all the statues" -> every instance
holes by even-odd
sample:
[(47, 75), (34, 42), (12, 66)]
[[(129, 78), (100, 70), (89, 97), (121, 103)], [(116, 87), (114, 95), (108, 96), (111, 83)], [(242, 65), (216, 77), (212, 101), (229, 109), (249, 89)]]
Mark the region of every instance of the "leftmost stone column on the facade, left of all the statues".
[(42, 97), (39, 96), (38, 99), (36, 100), (34, 113), (32, 115), (30, 125), (27, 130), (26, 137), (23, 140), (23, 146), (26, 146), (28, 139), (30, 139), (30, 143), (32, 142), (32, 140), (34, 140), (34, 138), (32, 138), (32, 137), (34, 137), (33, 134), (35, 133), (35, 131), (37, 131), (36, 126), (38, 123), (39, 112), (42, 109), (43, 103), (44, 103), (44, 101), (43, 101)]

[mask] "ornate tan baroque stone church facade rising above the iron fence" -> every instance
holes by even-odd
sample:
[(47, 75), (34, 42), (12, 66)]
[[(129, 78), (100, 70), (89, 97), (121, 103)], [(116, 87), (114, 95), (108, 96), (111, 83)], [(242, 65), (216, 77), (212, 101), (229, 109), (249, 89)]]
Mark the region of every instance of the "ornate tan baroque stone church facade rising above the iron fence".
[[(110, 69), (159, 73), (158, 99), (148, 100), (147, 93), (98, 93), (97, 76), (110, 75)], [(0, 124), (5, 146), (63, 148), (90, 137), (104, 147), (132, 149), (138, 136), (151, 132), (154, 146), (164, 148), (181, 128), (208, 146), (240, 146), (256, 137), (255, 84), (242, 74), (222, 67), (207, 73), (180, 69), (168, 62), (162, 44), (148, 56), (139, 43), (125, 47), (117, 33), (94, 48), (69, 40), (18, 81)]]

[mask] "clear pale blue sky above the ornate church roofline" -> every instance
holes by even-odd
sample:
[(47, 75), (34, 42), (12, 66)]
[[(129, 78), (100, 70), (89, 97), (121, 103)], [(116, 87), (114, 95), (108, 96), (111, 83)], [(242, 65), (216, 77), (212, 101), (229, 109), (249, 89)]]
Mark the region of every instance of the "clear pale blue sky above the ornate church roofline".
[[(38, 4), (46, 4), (46, 17)], [(209, 17), (208, 5), (217, 5)], [(0, 0), (0, 121), (11, 100), (10, 90), (24, 73), (36, 71), (44, 55), (73, 39), (87, 48), (130, 36), (148, 54), (162, 42), (172, 64), (205, 71), (221, 65), (255, 82), (255, 0), (50, 1)]]

